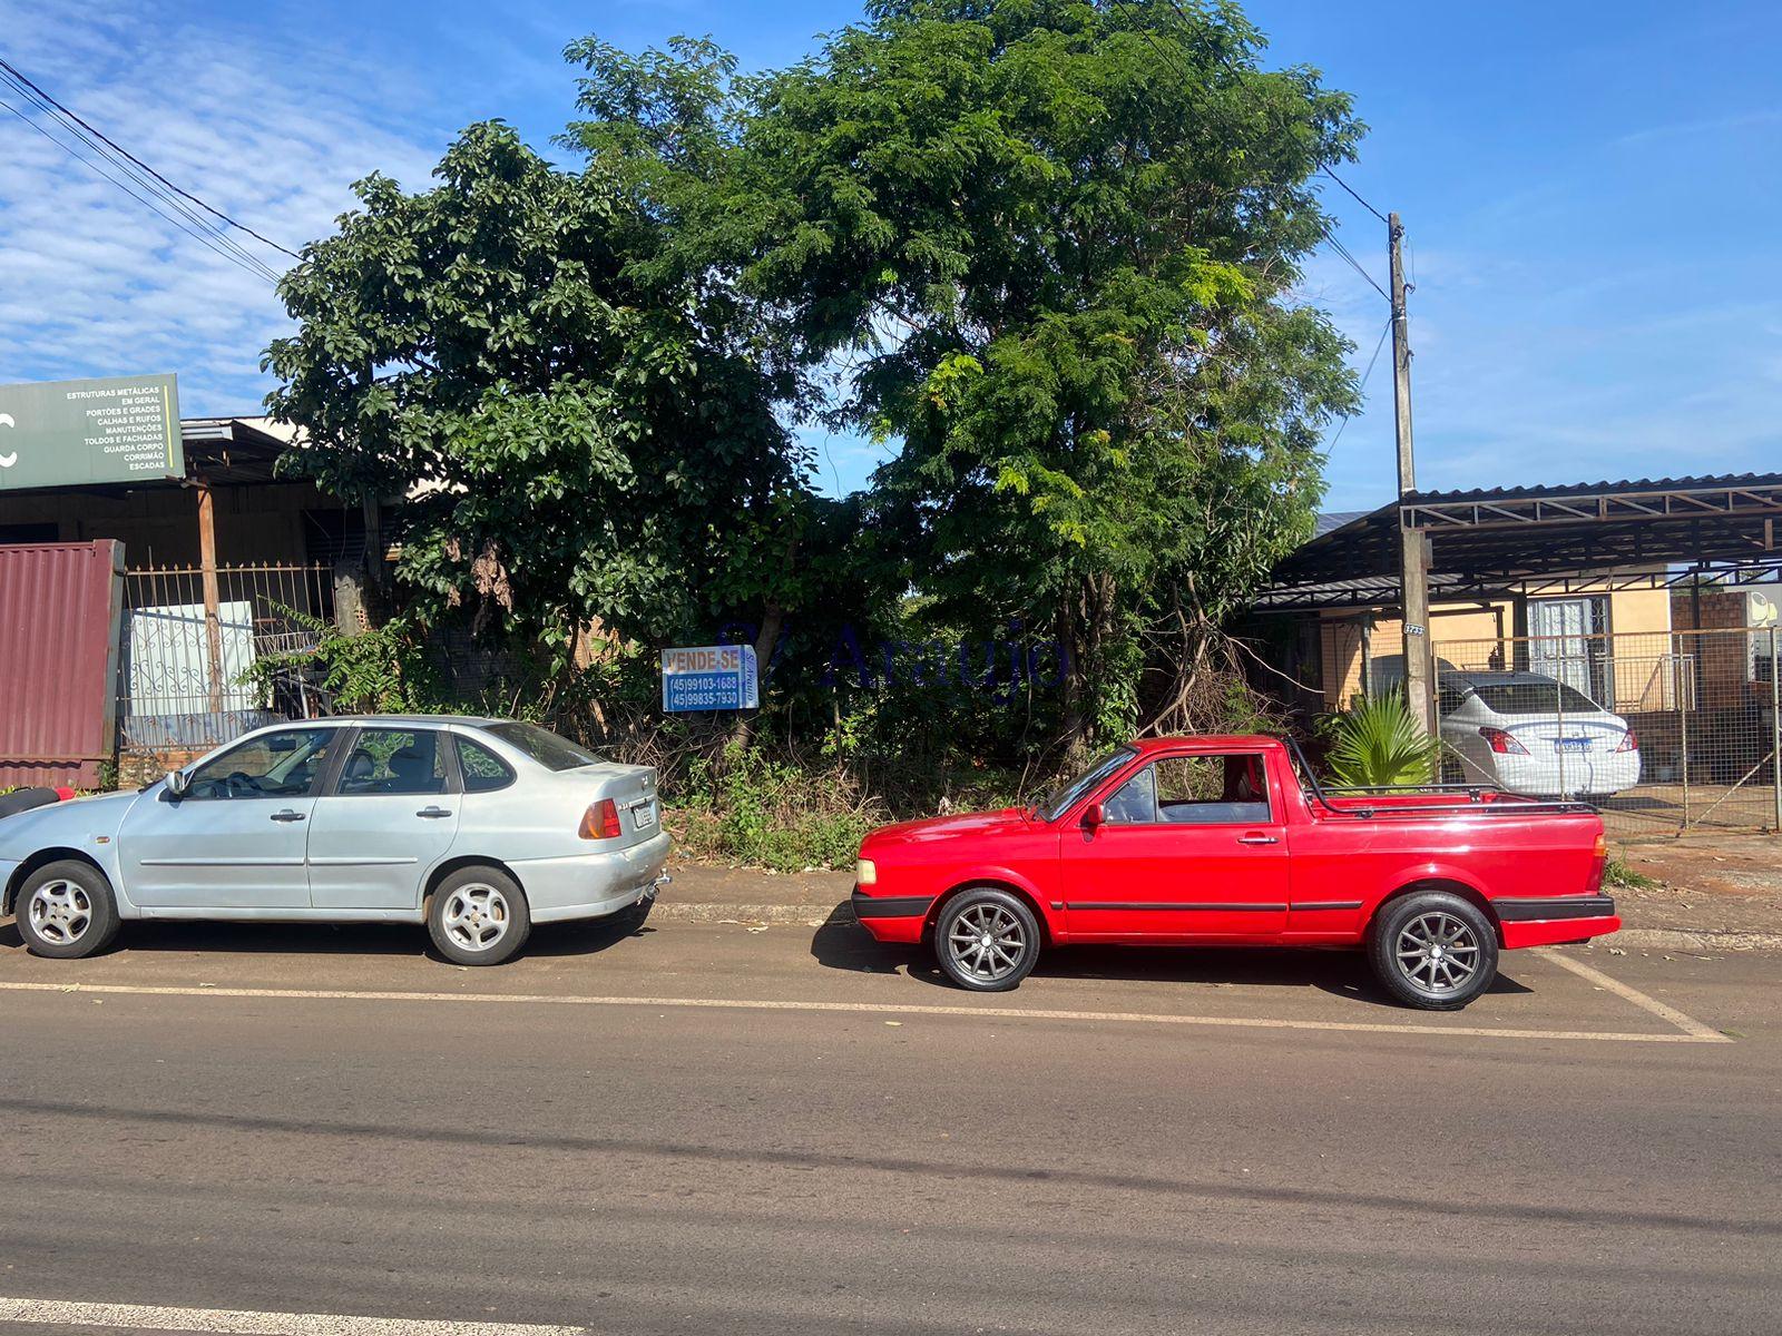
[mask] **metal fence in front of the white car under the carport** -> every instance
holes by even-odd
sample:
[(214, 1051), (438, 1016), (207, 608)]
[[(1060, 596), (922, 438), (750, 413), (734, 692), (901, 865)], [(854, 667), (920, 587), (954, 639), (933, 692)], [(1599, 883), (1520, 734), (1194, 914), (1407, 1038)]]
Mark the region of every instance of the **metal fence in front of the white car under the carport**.
[(1777, 627), (1443, 641), (1449, 778), (1584, 796), (1623, 835), (1782, 830)]

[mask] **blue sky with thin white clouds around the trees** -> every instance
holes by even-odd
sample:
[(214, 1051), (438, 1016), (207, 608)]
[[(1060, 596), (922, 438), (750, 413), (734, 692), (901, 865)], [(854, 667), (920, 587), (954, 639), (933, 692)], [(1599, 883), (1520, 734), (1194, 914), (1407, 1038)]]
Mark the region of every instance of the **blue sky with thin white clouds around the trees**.
[[(20, 4), (0, 52), (271, 237), (323, 233), (347, 183), (406, 185), (462, 125), (544, 146), (561, 46), (713, 34), (782, 64), (848, 4)], [(1782, 5), (1258, 0), (1271, 62), (1312, 62), (1370, 134), (1347, 180), (1411, 242), (1418, 481), (1431, 488), (1782, 468)], [(1385, 281), (1385, 228), (1331, 189)], [(1329, 253), (1304, 294), (1367, 363), (1385, 303)], [(0, 110), (0, 381), (176, 371), (187, 415), (255, 411), (271, 289)], [(1392, 495), (1390, 362), (1335, 444), (1328, 506)], [(822, 483), (879, 451), (813, 433)]]

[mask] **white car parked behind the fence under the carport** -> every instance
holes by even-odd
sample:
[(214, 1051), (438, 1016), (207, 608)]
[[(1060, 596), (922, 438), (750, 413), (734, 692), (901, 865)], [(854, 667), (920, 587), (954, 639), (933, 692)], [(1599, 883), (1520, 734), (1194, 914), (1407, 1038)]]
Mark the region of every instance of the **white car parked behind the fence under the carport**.
[(1557, 677), (1449, 670), (1436, 695), (1449, 777), (1565, 798), (1639, 782), (1639, 737), (1627, 720)]

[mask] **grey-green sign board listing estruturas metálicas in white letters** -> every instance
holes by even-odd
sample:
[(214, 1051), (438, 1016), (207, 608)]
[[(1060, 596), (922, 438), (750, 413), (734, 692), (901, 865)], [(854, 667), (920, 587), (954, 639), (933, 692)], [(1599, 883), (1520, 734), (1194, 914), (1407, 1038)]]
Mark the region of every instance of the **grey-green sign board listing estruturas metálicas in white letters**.
[(0, 385), (0, 492), (184, 476), (175, 376)]

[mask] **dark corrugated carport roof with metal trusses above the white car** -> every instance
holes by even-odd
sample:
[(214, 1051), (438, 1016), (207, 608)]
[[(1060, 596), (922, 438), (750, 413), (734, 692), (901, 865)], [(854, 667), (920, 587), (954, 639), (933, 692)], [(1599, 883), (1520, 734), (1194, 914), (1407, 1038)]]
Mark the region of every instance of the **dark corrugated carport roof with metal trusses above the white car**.
[(1636, 568), (1648, 586), (1688, 579), (1677, 568), (1734, 582), (1782, 575), (1782, 474), (1413, 492), (1329, 518), (1276, 566), (1263, 609), (1397, 604), (1401, 524), (1429, 536), (1436, 600)]

